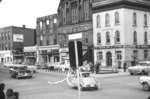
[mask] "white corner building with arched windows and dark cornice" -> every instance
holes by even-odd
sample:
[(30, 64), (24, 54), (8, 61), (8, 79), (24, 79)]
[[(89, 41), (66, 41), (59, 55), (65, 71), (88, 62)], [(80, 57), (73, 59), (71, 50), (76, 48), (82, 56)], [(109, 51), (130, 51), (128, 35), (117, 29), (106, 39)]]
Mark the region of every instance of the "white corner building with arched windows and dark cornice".
[(150, 60), (149, 0), (95, 0), (94, 61), (123, 67)]

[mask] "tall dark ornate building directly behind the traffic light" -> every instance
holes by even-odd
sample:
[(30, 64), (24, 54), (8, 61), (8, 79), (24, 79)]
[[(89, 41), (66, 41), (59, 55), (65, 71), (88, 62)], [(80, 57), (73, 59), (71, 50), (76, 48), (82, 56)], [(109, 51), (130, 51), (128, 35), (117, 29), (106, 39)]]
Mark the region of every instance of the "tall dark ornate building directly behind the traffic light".
[[(85, 49), (84, 53), (88, 52), (85, 58), (92, 61), (92, 50), (90, 49), (93, 46), (92, 0), (60, 0), (58, 22), (60, 47), (64, 49), (68, 47), (68, 35), (82, 33), (80, 40)], [(88, 48), (90, 50), (87, 51)]]

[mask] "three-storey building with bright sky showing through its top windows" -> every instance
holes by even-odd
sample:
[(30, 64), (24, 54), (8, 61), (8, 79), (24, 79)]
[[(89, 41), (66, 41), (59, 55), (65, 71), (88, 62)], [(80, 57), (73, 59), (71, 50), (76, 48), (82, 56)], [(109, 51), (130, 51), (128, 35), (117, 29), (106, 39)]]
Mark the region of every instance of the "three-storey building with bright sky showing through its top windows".
[[(59, 62), (58, 45), (58, 16), (57, 14), (38, 17), (36, 27), (37, 38), (37, 62)], [(30, 48), (29, 48), (30, 49)]]

